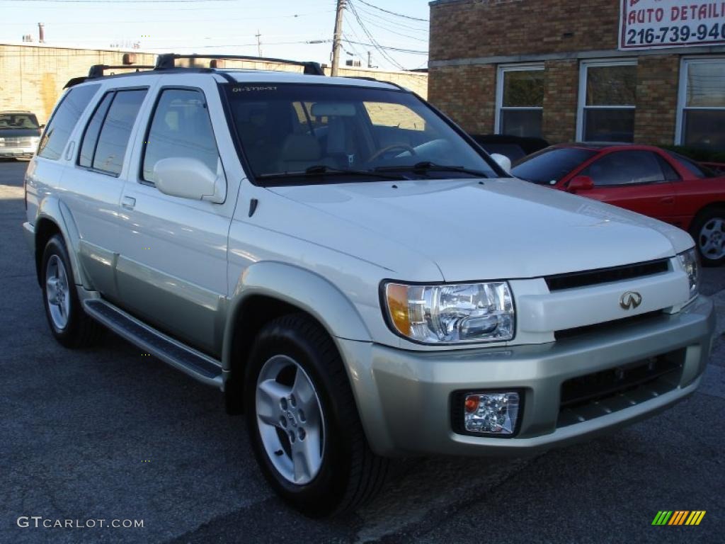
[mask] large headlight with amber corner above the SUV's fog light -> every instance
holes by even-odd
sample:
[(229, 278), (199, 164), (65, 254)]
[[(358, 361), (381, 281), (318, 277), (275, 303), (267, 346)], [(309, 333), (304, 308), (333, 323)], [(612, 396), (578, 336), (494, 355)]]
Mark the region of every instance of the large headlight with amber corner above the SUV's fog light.
[(384, 306), (398, 334), (424, 344), (505, 342), (513, 339), (508, 283), (384, 284)]

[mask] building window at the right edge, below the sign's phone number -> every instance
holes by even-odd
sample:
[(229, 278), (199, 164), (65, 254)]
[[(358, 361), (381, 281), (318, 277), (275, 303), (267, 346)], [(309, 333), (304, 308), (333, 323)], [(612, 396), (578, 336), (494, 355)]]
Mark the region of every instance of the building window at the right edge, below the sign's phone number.
[(677, 144), (725, 149), (725, 58), (684, 59)]

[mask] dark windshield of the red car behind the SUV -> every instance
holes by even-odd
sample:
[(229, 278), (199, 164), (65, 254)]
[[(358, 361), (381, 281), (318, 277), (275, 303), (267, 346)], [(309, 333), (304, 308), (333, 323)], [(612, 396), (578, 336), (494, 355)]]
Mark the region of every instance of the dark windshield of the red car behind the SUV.
[(573, 147), (549, 147), (523, 157), (511, 169), (517, 178), (535, 184), (554, 185), (582, 162), (597, 154), (592, 149)]

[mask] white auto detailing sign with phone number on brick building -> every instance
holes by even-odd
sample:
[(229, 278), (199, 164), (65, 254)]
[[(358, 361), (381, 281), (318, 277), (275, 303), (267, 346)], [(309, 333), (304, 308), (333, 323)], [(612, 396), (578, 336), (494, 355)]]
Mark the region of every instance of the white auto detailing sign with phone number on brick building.
[(725, 1), (621, 0), (619, 49), (725, 44)]

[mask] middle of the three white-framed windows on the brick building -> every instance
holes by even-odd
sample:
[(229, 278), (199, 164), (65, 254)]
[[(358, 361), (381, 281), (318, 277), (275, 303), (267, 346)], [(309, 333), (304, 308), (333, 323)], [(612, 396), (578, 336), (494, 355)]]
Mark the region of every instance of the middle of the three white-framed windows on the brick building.
[(637, 61), (582, 62), (579, 73), (580, 141), (634, 141)]

